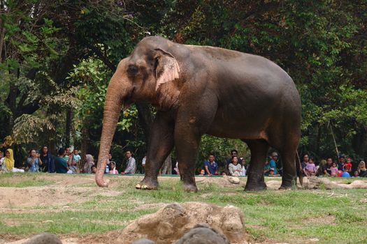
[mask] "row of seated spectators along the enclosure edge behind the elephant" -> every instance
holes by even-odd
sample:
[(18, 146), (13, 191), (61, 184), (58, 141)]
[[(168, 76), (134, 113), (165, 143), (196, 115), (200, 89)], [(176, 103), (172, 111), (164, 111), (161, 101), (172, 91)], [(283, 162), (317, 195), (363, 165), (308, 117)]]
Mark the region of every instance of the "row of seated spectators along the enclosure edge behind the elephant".
[[(117, 164), (112, 160), (112, 155), (108, 155), (108, 160), (105, 168), (105, 174), (136, 174), (136, 160), (131, 151), (125, 151), (126, 164), (122, 165), (124, 168), (120, 173), (117, 170)], [(59, 174), (78, 174), (87, 173), (95, 174), (96, 165), (92, 155), (85, 156), (84, 167), (80, 168), (82, 158), (77, 148), (65, 147), (60, 148), (58, 155), (54, 156), (48, 150), (48, 146), (43, 146), (40, 151), (35, 149), (29, 150), (27, 157), (27, 167), (25, 169), (17, 169), (15, 167), (15, 160), (13, 157), (13, 150), (7, 149), (5, 155), (0, 151), (0, 171), (13, 172), (48, 172)], [(143, 158), (141, 166), (141, 173), (145, 173), (145, 160)], [(338, 160), (327, 158), (321, 160), (319, 163), (315, 159), (309, 157), (308, 154), (303, 155), (301, 162), (301, 169), (303, 176), (331, 176), (331, 177), (367, 177), (366, 163), (360, 161), (358, 164), (353, 163), (351, 157), (340, 155)], [(245, 158), (238, 157), (238, 151), (233, 149), (231, 157), (226, 162), (215, 162), (215, 155), (208, 155), (208, 160), (205, 160), (203, 167), (199, 168), (197, 175), (199, 176), (245, 176), (247, 171), (247, 164)], [(173, 167), (173, 174), (180, 174), (178, 169), (178, 162)], [(264, 176), (282, 176), (282, 164), (279, 160), (279, 155), (276, 152), (269, 155), (269, 160), (264, 163)]]

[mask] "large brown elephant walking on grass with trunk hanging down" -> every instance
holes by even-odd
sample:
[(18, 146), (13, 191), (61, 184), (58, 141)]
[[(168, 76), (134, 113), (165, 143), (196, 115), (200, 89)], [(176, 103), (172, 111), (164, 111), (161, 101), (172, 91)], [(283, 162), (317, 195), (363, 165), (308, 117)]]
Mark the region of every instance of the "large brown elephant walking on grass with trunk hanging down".
[(280, 189), (296, 183), (301, 98), (292, 78), (264, 57), (143, 38), (108, 84), (96, 173), (101, 187), (108, 185), (103, 171), (122, 106), (132, 102), (157, 108), (138, 189), (157, 189), (159, 169), (175, 146), (183, 188), (196, 192), (195, 163), (204, 134), (241, 139), (250, 148), (245, 190), (266, 190), (263, 170), (270, 146), (282, 159)]

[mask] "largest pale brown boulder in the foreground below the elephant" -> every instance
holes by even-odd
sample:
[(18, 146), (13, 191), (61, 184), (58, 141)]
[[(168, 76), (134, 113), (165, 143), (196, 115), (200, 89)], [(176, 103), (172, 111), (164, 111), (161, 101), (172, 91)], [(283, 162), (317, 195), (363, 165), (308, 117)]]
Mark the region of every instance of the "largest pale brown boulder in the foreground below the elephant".
[[(173, 243), (197, 224), (208, 224), (213, 228), (211, 231), (224, 234), (230, 243), (247, 243), (249, 239), (245, 233), (243, 213), (239, 208), (187, 202), (168, 204), (157, 213), (135, 220), (122, 230), (115, 243), (132, 243), (139, 238), (147, 238), (157, 244)], [(205, 232), (200, 228), (196, 228), (196, 231), (202, 234)]]

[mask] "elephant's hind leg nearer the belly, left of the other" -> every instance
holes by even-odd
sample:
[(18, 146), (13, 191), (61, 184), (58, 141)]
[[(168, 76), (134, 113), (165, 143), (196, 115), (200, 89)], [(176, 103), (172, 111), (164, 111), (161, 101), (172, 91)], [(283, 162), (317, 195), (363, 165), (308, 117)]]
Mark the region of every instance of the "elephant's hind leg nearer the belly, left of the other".
[(246, 140), (245, 142), (251, 151), (251, 162), (245, 190), (266, 190), (264, 165), (269, 148), (268, 142), (263, 139)]

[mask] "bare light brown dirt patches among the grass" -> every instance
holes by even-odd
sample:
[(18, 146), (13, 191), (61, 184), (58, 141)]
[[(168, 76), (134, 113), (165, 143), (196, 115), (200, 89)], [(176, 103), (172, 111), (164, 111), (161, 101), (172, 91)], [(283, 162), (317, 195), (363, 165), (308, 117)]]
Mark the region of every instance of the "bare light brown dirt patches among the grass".
[[(10, 177), (3, 178), (6, 181), (11, 183), (17, 183), (20, 181), (31, 180), (33, 176), (22, 176), (22, 177)], [(131, 176), (118, 176), (119, 178), (130, 178)], [(142, 176), (133, 176), (134, 181), (136, 183), (142, 179)], [(177, 177), (175, 177), (177, 178)], [(167, 181), (170, 180), (170, 177), (160, 177), (159, 181)], [(111, 182), (109, 188), (94, 188), (94, 176), (93, 175), (80, 175), (80, 176), (68, 176), (64, 177), (62, 175), (38, 175), (37, 180), (41, 181), (51, 181), (49, 185), (43, 186), (34, 186), (34, 187), (25, 187), (25, 188), (13, 188), (13, 187), (2, 187), (0, 188), (0, 216), (1, 213), (37, 213), (37, 212), (47, 212), (47, 211), (62, 211), (62, 208), (67, 207), (67, 204), (75, 204), (82, 203), (88, 201), (89, 199), (93, 199), (96, 195), (113, 197), (117, 195), (121, 195), (123, 193), (122, 190), (117, 191), (117, 184), (115, 181)], [(233, 184), (228, 181), (227, 178), (208, 178), (208, 177), (200, 177), (196, 178), (196, 183), (198, 185), (205, 184), (218, 184), (226, 187), (243, 187), (245, 185), (246, 178), (240, 178), (239, 184)], [(317, 181), (314, 179), (312, 181)], [(325, 180), (322, 180), (325, 181)], [(329, 180), (328, 180), (329, 181)], [(267, 181), (268, 189), (278, 189), (280, 186), (280, 178), (274, 178), (272, 181)], [(306, 182), (308, 183), (308, 181)], [(352, 188), (353, 184), (336, 184), (331, 183), (331, 188)], [(310, 185), (310, 183), (308, 183)], [(322, 182), (322, 185), (327, 185), (325, 182)], [(343, 186), (344, 185), (344, 186)], [(354, 184), (356, 188), (367, 188), (367, 181), (364, 181), (360, 184)], [(312, 183), (310, 185), (310, 189), (317, 187), (316, 183)], [(46, 209), (36, 209), (32, 208), (35, 206), (55, 206), (54, 209), (46, 208)], [(57, 208), (57, 206), (63, 206)], [(144, 204), (143, 208), (159, 208), (160, 206), (164, 206), (164, 204)], [(27, 207), (27, 208), (24, 208)], [(31, 209), (29, 209), (31, 208)], [(310, 222), (315, 220), (309, 220)], [(319, 221), (319, 220), (316, 220)], [(333, 222), (332, 219), (322, 220), (325, 222)], [(12, 224), (7, 223), (6, 224)], [(111, 236), (116, 236), (120, 234), (119, 231), (112, 231), (106, 234), (100, 234), (99, 236), (80, 236), (68, 234), (66, 235), (58, 235), (62, 238), (62, 242), (66, 244), (72, 243), (108, 243), (108, 240), (112, 242)], [(21, 238), (21, 239), (20, 239)], [(14, 235), (0, 235), (0, 244), (2, 243), (13, 243), (20, 244), (24, 243), (24, 241), (29, 238), (29, 235), (23, 236), (14, 236)], [(20, 240), (19, 240), (20, 239)]]

